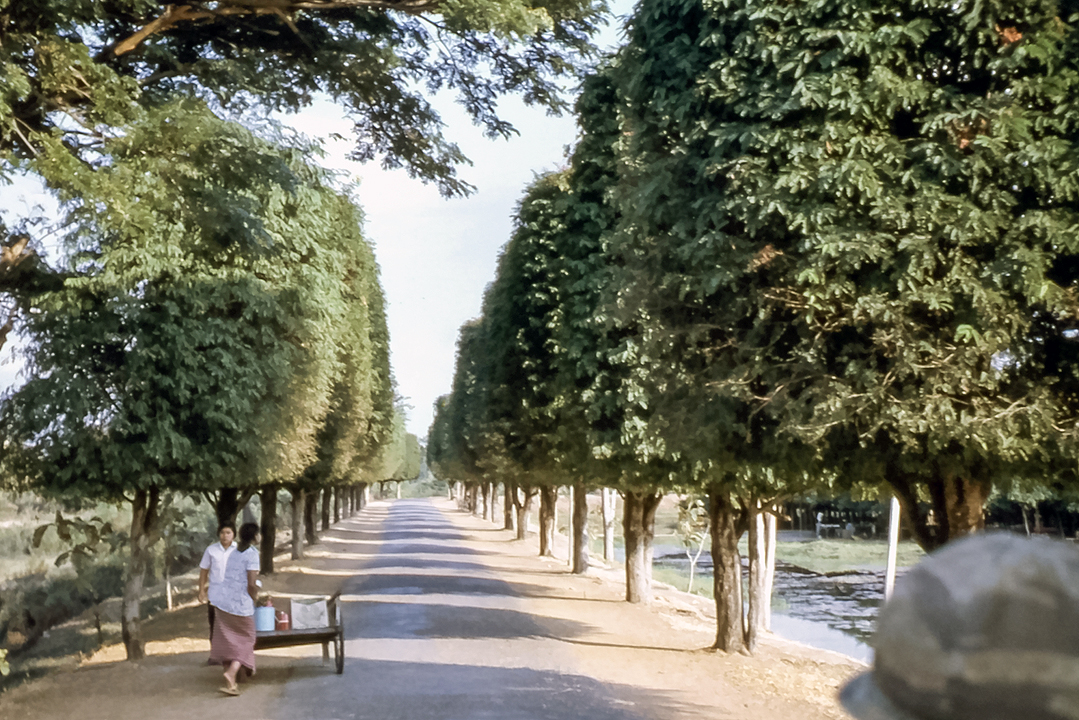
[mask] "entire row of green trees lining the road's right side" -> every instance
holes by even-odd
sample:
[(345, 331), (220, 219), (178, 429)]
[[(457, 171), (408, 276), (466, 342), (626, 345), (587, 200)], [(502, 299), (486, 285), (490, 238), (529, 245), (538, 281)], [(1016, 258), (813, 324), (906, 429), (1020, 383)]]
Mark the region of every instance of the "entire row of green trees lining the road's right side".
[(1074, 497), (1077, 23), (643, 0), (462, 328), (432, 467), (618, 488), (630, 601), (661, 493), (706, 494), (726, 651), (763, 626), (778, 500), (879, 487), (931, 549), (994, 492)]

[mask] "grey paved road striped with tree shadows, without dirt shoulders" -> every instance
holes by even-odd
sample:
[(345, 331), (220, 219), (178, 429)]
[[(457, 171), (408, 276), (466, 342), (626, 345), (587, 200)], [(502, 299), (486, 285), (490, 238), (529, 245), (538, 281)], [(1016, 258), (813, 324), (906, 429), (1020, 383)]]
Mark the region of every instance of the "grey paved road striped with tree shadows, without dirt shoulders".
[(327, 536), (343, 585), (344, 676), (297, 669), (279, 718), (630, 720), (666, 717), (661, 697), (575, 674), (559, 646), (587, 631), (530, 613), (546, 588), (507, 582), (424, 501), (371, 508)]

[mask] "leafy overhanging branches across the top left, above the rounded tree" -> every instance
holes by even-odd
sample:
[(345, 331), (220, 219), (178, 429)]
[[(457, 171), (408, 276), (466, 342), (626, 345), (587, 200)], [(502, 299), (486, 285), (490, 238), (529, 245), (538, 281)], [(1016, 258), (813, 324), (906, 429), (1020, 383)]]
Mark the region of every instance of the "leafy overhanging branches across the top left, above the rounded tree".
[[(504, 94), (558, 112), (589, 60), (599, 0), (0, 0), (0, 153), (46, 181), (177, 94), (219, 112), (296, 111), (316, 95), (354, 123), (353, 158), (381, 158), (447, 195), (470, 186), (428, 97), (456, 93), (491, 136)], [(57, 142), (63, 145), (57, 145)]]

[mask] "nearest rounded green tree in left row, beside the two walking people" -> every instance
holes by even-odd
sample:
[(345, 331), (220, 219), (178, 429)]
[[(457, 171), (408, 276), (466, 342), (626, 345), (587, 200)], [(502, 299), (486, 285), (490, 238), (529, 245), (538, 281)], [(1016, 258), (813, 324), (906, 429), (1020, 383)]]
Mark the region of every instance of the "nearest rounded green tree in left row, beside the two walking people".
[(162, 493), (311, 462), (347, 252), (326, 212), (337, 195), (301, 150), (202, 106), (150, 113), (101, 153), (107, 165), (62, 188), (73, 272), (27, 316), (31, 373), (2, 406), (3, 460), (40, 492), (131, 503), (135, 658)]

